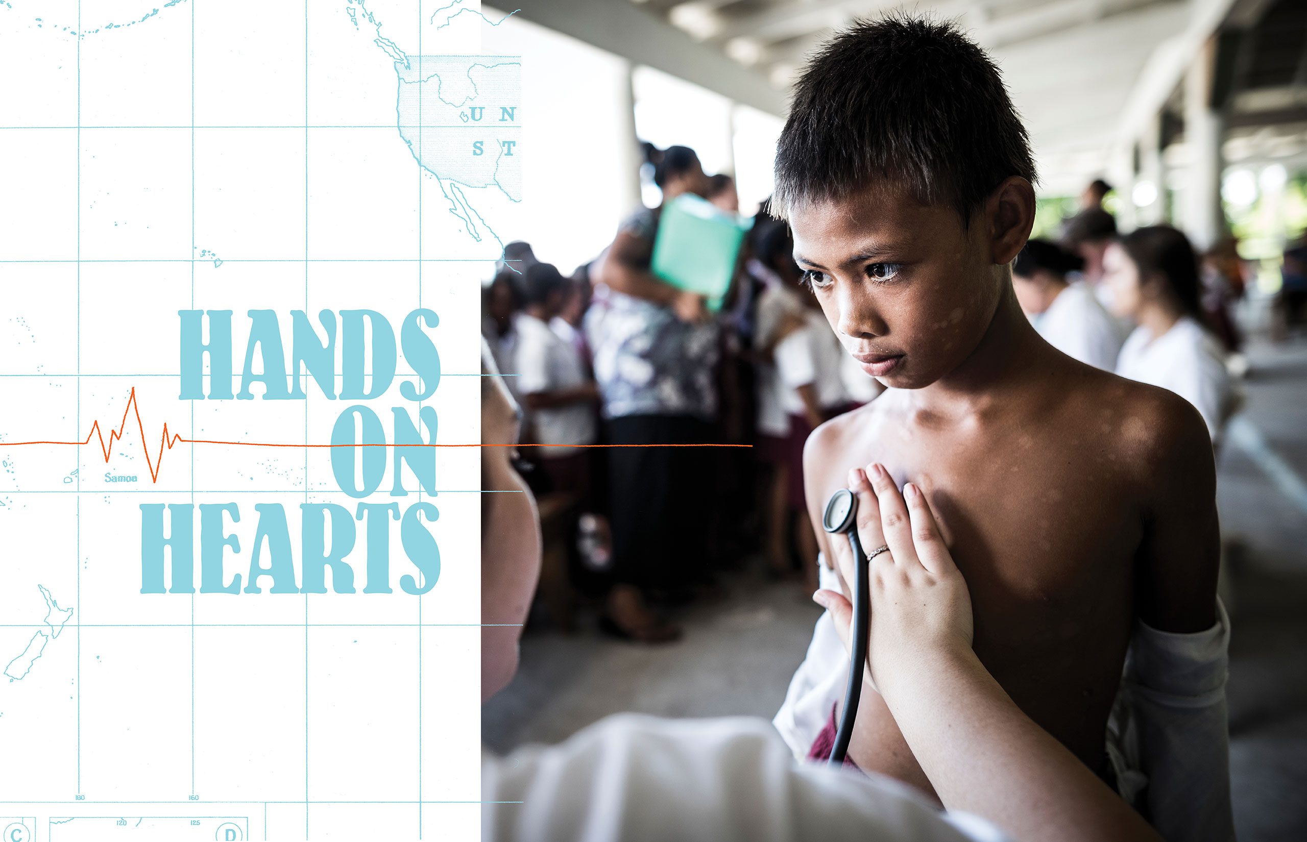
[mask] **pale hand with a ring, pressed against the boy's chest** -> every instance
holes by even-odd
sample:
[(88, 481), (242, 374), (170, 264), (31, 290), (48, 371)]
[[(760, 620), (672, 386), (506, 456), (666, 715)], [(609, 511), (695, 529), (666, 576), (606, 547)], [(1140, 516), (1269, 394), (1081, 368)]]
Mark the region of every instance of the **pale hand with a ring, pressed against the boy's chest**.
[[(870, 640), (868, 668), (878, 689), (920, 663), (923, 657), (970, 653), (971, 595), (940, 537), (935, 513), (920, 490), (908, 483), (899, 493), (878, 463), (848, 475), (857, 496), (857, 531), (863, 550), (889, 546), (870, 561)], [(834, 537), (833, 537), (834, 538)], [(830, 542), (840, 578), (856, 581), (852, 552), (842, 537)], [(819, 590), (813, 595), (831, 614), (850, 649), (853, 621), (851, 594)]]

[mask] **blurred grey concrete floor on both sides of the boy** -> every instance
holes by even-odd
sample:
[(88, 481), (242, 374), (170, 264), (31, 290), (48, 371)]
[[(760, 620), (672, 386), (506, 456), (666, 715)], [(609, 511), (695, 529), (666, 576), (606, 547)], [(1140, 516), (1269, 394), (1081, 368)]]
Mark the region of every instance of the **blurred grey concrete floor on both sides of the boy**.
[[(1218, 460), (1234, 564), (1230, 772), (1243, 842), (1307, 839), (1307, 341), (1249, 349), (1247, 406)], [(771, 718), (819, 610), (796, 584), (728, 582), (678, 617), (686, 636), (637, 647), (529, 631), (521, 671), (482, 709), (494, 751), (555, 743), (610, 713)]]

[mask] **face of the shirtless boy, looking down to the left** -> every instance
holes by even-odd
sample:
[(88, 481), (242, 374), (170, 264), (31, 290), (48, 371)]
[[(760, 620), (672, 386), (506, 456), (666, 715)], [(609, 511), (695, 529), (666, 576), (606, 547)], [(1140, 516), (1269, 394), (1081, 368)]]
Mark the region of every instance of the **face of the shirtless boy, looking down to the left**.
[(989, 326), (1008, 283), (989, 222), (876, 187), (791, 213), (795, 260), (835, 335), (882, 384), (920, 389), (951, 372)]

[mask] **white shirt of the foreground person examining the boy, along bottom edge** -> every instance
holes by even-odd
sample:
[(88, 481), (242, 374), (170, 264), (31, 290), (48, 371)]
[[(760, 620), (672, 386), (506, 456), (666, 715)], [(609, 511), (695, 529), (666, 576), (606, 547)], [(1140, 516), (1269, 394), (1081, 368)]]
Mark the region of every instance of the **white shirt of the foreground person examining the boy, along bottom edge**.
[(797, 764), (763, 719), (618, 714), (482, 756), (482, 842), (1001, 842), (884, 775)]

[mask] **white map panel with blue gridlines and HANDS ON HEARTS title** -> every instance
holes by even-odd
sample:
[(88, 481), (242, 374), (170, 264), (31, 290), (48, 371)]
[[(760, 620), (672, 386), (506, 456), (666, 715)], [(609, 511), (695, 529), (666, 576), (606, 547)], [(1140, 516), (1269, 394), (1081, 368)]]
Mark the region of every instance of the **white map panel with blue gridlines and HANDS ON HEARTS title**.
[[(480, 838), (480, 457), (433, 448), (427, 487), (399, 448), (379, 462), (353, 448), (358, 471), (386, 473), (356, 493), (345, 457), (316, 448), (352, 405), (388, 441), (427, 407), (433, 443), (480, 440), (481, 283), (529, 155), (521, 60), (495, 40), (512, 14), (0, 0), (7, 842)], [(180, 397), (182, 313), (203, 315), (208, 342), (227, 311), (233, 392), (250, 356), (251, 399), (213, 397), (212, 349), (207, 397)], [(420, 382), (405, 346), (393, 386), (340, 397), (346, 313), (375, 313), (358, 334), (372, 342), (378, 321), (399, 334), (426, 311), (438, 389), (401, 397)], [(267, 312), (281, 349), (255, 341)], [(291, 346), (293, 319), (325, 341), (323, 313), (340, 325), (333, 389)], [(276, 354), (303, 397), (271, 396)], [(375, 385), (375, 347), (361, 359)], [(425, 591), (405, 556), (417, 518), (400, 517), (421, 507), (438, 547)], [(149, 512), (169, 565), (192, 517), (193, 593), (148, 586)], [(205, 538), (214, 522), (227, 543)], [(327, 559), (346, 531), (354, 593)], [(365, 593), (375, 547), (393, 587)], [(325, 593), (308, 586), (314, 552)], [(214, 559), (248, 581), (269, 557), (291, 587), (200, 587)]]

